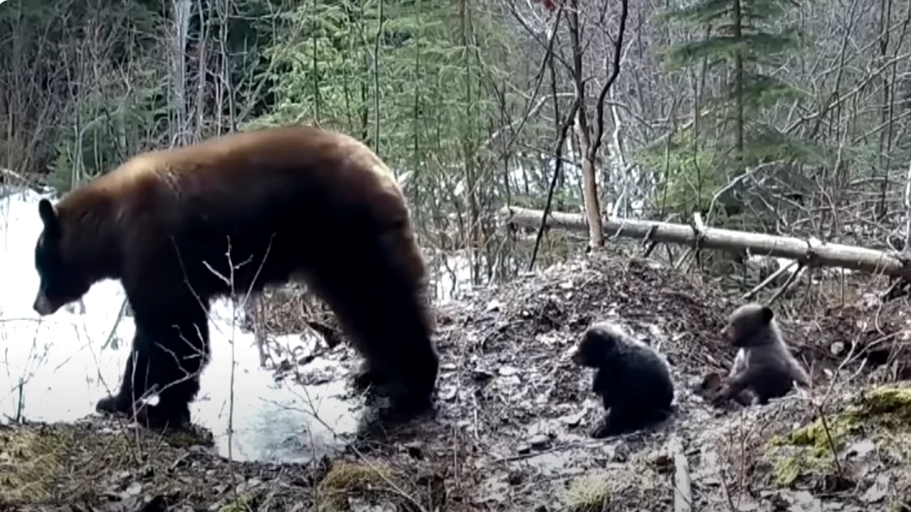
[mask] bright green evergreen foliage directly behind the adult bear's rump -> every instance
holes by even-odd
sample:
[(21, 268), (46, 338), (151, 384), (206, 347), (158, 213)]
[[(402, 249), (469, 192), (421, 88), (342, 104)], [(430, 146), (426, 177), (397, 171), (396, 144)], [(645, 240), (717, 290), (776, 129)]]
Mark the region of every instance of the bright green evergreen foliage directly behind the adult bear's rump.
[[(496, 63), (510, 47), (492, 16), (472, 9), (448, 0), (297, 1), (267, 50), (274, 108), (241, 128), (307, 123), (361, 138), (408, 174), (417, 215), (492, 203), (499, 189), (477, 186), (496, 182), (498, 163), (484, 144), (499, 121), (486, 87), (506, 82)], [(525, 106), (511, 92), (505, 99)]]

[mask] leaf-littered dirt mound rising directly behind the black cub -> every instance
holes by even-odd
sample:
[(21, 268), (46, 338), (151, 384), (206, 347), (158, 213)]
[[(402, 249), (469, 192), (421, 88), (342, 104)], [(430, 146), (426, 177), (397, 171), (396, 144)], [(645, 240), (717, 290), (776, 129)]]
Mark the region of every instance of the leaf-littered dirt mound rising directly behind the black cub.
[(529, 350), (532, 340), (545, 333), (558, 332), (576, 342), (589, 323), (610, 319), (658, 348), (681, 372), (698, 374), (730, 359), (731, 351), (719, 333), (733, 306), (699, 276), (662, 268), (653, 261), (596, 254), (478, 293), (440, 311), (444, 319), (466, 326), (472, 323), (474, 328), (498, 312), (501, 325), (486, 335), (484, 343), (487, 352), (504, 354)]

